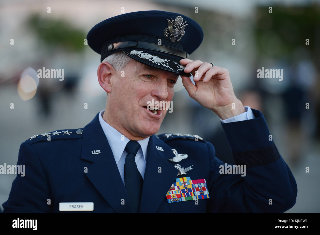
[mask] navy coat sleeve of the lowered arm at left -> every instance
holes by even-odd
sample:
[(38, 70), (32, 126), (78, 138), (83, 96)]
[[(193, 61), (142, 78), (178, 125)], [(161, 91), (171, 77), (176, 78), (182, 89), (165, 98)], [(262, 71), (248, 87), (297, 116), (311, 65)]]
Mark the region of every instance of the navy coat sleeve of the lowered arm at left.
[(17, 174), (9, 194), (2, 206), (3, 213), (52, 212), (50, 189), (40, 159), (31, 145), (20, 145), (17, 165), (25, 165), (25, 176)]

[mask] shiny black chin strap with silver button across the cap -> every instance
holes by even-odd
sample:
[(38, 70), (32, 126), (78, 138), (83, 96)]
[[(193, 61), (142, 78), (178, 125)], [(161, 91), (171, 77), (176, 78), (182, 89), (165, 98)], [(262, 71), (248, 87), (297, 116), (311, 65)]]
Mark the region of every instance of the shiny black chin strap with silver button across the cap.
[[(104, 49), (103, 47), (107, 47), (108, 51), (113, 51), (120, 48), (139, 48), (139, 49), (149, 49), (153, 51), (159, 51), (164, 52), (167, 54), (171, 54), (174, 56), (179, 56), (182, 58), (189, 58), (189, 54), (185, 51), (181, 51), (178, 49), (166, 47), (163, 45), (158, 45), (155, 43), (146, 43), (146, 42), (140, 42), (140, 41), (127, 41), (127, 42), (120, 42), (120, 43), (110, 43), (108, 45), (104, 44), (102, 45), (101, 49)], [(104, 51), (104, 50), (101, 50)]]

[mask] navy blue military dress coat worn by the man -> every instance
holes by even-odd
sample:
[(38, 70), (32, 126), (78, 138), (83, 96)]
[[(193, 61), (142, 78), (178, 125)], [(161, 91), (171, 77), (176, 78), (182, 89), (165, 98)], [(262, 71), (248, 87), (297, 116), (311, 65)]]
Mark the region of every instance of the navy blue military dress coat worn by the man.
[[(282, 213), (291, 208), (296, 202), (296, 181), (276, 145), (269, 140), (263, 114), (254, 109), (252, 112), (254, 119), (222, 123), (235, 163), (246, 165), (246, 176), (220, 174), (220, 165), (224, 163), (215, 156), (213, 145), (201, 138), (152, 135), (140, 213)], [(50, 141), (39, 135), (21, 144), (17, 165), (26, 166), (26, 175), (17, 175), (13, 181), (3, 212), (69, 213), (59, 211), (60, 202), (93, 202), (93, 211), (77, 211), (81, 213), (131, 212), (128, 194), (98, 114), (80, 129), (82, 134), (76, 134), (77, 129), (69, 129), (70, 135), (52, 135)], [(175, 179), (181, 177), (174, 167), (177, 163), (168, 161), (175, 157), (172, 149), (188, 154), (188, 158), (178, 164), (184, 168), (193, 165), (193, 169), (183, 176), (191, 180), (205, 179), (210, 199), (168, 203), (165, 195)], [(101, 153), (92, 154), (93, 150)]]

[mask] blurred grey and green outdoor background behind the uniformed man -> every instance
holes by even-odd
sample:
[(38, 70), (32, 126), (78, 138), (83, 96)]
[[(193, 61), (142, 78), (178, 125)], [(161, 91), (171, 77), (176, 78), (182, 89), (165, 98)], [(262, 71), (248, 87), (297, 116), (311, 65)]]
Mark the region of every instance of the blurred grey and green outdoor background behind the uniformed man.
[[(201, 25), (204, 41), (190, 59), (227, 68), (243, 105), (264, 114), (298, 185), (287, 212), (319, 213), (319, 1), (2, 0), (0, 165), (15, 165), (20, 144), (31, 136), (84, 127), (105, 109), (100, 55), (85, 44), (86, 35), (102, 20), (146, 10), (177, 12)], [(43, 67), (64, 69), (64, 80), (37, 78)], [(257, 78), (262, 67), (283, 69), (284, 79)], [(157, 134), (197, 134), (212, 142), (218, 158), (234, 163), (220, 118), (191, 99), (181, 79), (173, 103)], [(15, 177), (0, 175), (1, 210)]]

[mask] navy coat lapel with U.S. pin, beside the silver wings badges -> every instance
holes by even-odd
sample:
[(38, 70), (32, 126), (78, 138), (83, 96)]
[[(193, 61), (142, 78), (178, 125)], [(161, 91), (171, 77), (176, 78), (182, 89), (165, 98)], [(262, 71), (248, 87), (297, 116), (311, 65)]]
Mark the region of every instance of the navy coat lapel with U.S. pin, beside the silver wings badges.
[[(158, 150), (161, 147), (164, 151)], [(140, 213), (155, 213), (179, 172), (169, 158), (173, 158), (171, 147), (155, 135), (150, 136), (147, 150), (147, 165), (144, 173)], [(159, 171), (161, 167), (161, 173)]]

